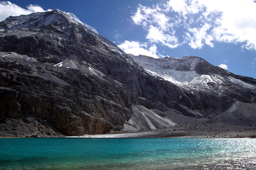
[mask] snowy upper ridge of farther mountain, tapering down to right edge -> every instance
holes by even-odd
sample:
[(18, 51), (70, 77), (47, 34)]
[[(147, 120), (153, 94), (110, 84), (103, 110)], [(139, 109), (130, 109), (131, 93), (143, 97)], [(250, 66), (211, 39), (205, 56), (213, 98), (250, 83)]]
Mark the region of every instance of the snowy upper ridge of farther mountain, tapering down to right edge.
[[(208, 83), (215, 82), (213, 79), (216, 75), (220, 77), (235, 77), (247, 82), (255, 84), (253, 78), (246, 78), (236, 75), (220, 67), (213, 66), (203, 58), (196, 56), (185, 56), (182, 58), (164, 57), (152, 58), (148, 56), (130, 55), (135, 62), (139, 63), (144, 69), (154, 72), (157, 75), (164, 77), (165, 80), (171, 81), (177, 85)], [(199, 81), (199, 82), (198, 82)], [(216, 80), (220, 82), (220, 80)]]

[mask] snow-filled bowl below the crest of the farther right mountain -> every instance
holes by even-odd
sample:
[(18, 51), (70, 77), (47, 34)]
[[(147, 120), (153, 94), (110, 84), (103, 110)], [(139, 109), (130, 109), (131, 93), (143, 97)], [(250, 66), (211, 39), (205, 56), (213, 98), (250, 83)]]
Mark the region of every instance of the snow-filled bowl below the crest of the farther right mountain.
[(176, 85), (188, 85), (194, 83), (206, 84), (213, 80), (206, 80), (206, 76), (196, 73), (194, 68), (201, 62), (201, 58), (188, 56), (183, 58), (155, 59), (148, 56), (133, 56), (133, 60), (140, 64), (151, 74), (158, 75), (164, 80), (171, 81)]

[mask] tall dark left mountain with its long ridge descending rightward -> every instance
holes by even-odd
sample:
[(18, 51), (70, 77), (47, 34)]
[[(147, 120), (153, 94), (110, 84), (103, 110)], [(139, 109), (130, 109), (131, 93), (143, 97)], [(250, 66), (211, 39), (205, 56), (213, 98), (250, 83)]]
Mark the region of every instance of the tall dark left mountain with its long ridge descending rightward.
[[(34, 119), (68, 136), (102, 134), (120, 131), (133, 117), (133, 106), (157, 109), (163, 117), (169, 111), (206, 117), (222, 113), (235, 100), (255, 102), (250, 89), (230, 87), (217, 97), (220, 85), (191, 91), (150, 74), (112, 42), (58, 10), (9, 17), (0, 30), (1, 130), (10, 130), (5, 127), (11, 121)], [(206, 74), (215, 67), (195, 68)]]

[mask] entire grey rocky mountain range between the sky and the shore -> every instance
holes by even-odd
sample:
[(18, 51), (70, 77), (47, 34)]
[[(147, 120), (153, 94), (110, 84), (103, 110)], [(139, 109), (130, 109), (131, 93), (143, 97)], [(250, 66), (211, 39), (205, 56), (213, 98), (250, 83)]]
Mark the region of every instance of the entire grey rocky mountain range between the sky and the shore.
[(1, 136), (166, 129), (202, 118), (214, 123), (245, 106), (251, 116), (240, 123), (250, 124), (255, 88), (255, 79), (202, 58), (129, 56), (71, 13), (0, 23)]

